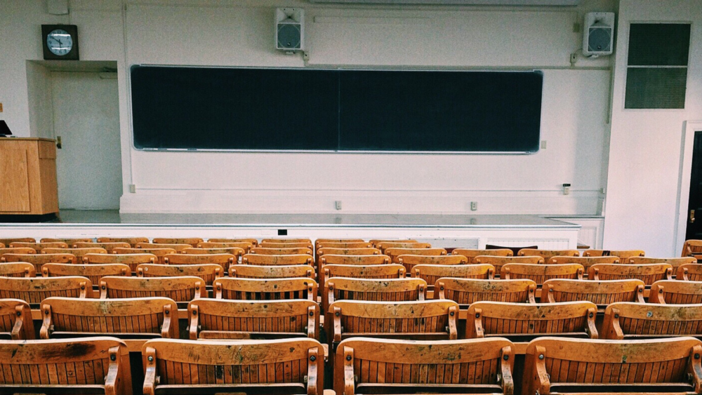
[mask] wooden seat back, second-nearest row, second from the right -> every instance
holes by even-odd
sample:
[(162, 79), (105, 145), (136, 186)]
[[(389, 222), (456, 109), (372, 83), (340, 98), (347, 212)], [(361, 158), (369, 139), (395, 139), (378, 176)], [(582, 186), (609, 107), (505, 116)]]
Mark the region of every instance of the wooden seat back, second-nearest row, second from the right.
[(534, 337), (566, 336), (597, 339), (597, 306), (592, 302), (475, 302), (468, 307), (465, 337), (501, 336), (514, 342)]

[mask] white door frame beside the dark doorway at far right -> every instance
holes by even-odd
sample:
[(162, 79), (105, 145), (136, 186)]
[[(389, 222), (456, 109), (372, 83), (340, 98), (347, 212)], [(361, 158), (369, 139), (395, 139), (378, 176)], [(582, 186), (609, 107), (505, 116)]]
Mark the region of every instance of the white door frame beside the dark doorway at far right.
[(677, 218), (675, 220), (675, 246), (673, 251), (682, 252), (687, 232), (687, 209), (690, 196), (690, 181), (692, 177), (692, 154), (695, 142), (695, 132), (702, 132), (702, 121), (685, 121), (682, 129), (682, 154), (680, 155), (680, 178), (677, 182)]

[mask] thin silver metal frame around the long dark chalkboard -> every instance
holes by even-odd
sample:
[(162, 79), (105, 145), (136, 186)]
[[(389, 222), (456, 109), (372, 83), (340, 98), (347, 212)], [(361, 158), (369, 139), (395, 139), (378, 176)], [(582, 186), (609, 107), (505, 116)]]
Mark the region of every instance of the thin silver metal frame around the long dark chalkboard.
[[(431, 67), (413, 67), (411, 69), (399, 69), (396, 67), (365, 67), (365, 68), (320, 68), (320, 67), (247, 67), (247, 66), (187, 66), (187, 65), (151, 65), (138, 64), (132, 65), (131, 71), (137, 68), (144, 67), (167, 67), (180, 69), (267, 69), (267, 70), (309, 70), (309, 71), (362, 71), (362, 72), (466, 72), (466, 73), (512, 73), (512, 74), (538, 74), (541, 78), (541, 86), (539, 86), (540, 101), (538, 103), (538, 135), (536, 136), (536, 144), (533, 150), (527, 151), (451, 151), (451, 150), (397, 150), (397, 149), (246, 149), (246, 148), (180, 148), (180, 147), (138, 147), (135, 144), (135, 127), (133, 116), (133, 90), (130, 84), (130, 92), (128, 95), (131, 109), (131, 145), (133, 149), (143, 152), (233, 152), (233, 153), (305, 153), (305, 154), (430, 154), (430, 155), (530, 155), (536, 154), (541, 149), (541, 127), (543, 126), (543, 84), (544, 74), (539, 69), (465, 69), (461, 67), (449, 68), (431, 68)], [(128, 74), (131, 81), (132, 73)]]

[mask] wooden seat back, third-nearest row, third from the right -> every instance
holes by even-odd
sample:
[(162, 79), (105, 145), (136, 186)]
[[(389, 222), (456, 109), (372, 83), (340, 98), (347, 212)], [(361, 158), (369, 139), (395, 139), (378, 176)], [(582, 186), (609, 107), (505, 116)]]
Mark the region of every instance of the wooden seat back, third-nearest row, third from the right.
[(529, 279), (477, 280), (438, 279), (434, 286), (435, 299), (449, 299), (465, 305), (482, 300), (494, 302), (536, 303), (536, 283)]

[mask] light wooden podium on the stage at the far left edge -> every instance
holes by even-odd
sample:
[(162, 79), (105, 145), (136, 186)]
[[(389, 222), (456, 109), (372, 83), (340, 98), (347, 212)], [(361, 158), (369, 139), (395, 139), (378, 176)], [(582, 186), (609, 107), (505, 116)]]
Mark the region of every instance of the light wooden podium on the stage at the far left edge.
[(0, 138), (0, 216), (51, 213), (58, 213), (54, 140)]

